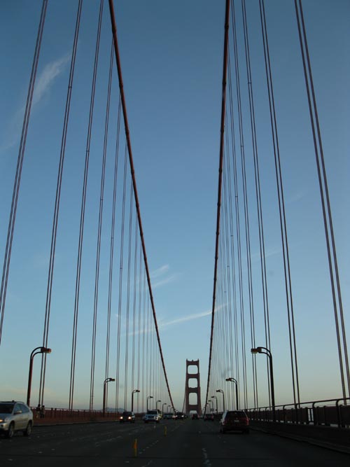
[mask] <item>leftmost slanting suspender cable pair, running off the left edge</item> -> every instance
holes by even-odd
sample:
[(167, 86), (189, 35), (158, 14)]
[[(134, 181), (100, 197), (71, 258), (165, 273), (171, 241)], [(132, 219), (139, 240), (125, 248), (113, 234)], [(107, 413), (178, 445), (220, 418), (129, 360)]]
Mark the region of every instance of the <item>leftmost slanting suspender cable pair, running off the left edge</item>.
[(2, 328), (3, 328), (3, 316), (5, 314), (8, 272), (10, 270), (10, 259), (11, 259), (11, 250), (12, 250), (12, 242), (13, 242), (13, 232), (15, 230), (18, 194), (20, 193), (20, 181), (21, 181), (21, 175), (22, 175), (23, 160), (25, 158), (25, 144), (27, 141), (27, 132), (28, 132), (28, 125), (29, 125), (30, 111), (31, 111), (31, 102), (33, 100), (34, 85), (36, 81), (36, 71), (38, 69), (38, 60), (40, 56), (41, 40), (43, 39), (43, 27), (45, 25), (45, 15), (46, 15), (47, 6), (48, 6), (48, 0), (43, 0), (43, 5), (41, 6), (41, 16), (40, 16), (40, 21), (38, 25), (38, 35), (36, 37), (36, 46), (35, 46), (35, 51), (34, 51), (33, 64), (31, 65), (31, 76), (30, 76), (30, 81), (29, 81), (27, 104), (25, 106), (25, 117), (23, 119), (20, 150), (18, 151), (15, 182), (13, 184), (12, 204), (11, 204), (11, 209), (10, 209), (10, 219), (8, 221), (6, 249), (5, 249), (5, 257), (3, 259), (3, 272), (2, 272), (2, 278), (1, 278), (1, 290), (0, 290), (0, 344), (1, 344), (1, 336), (2, 336)]

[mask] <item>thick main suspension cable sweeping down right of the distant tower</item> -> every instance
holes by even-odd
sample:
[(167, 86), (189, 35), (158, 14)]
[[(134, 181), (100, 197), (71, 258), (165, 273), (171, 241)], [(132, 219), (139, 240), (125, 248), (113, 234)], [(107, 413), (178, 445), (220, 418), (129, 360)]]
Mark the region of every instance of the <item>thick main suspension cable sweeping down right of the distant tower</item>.
[(208, 365), (208, 381), (206, 399), (209, 396), (209, 382), (211, 373), (211, 356), (213, 352), (213, 335), (214, 335), (214, 315), (216, 303), (216, 278), (218, 269), (218, 249), (219, 249), (219, 235), (220, 235), (220, 214), (221, 214), (221, 186), (223, 179), (223, 151), (224, 151), (224, 134), (225, 134), (225, 104), (226, 104), (226, 75), (228, 69), (228, 28), (230, 20), (230, 0), (226, 0), (225, 5), (225, 39), (223, 48), (223, 89), (221, 101), (221, 137), (220, 137), (220, 156), (219, 156), (219, 171), (218, 171), (218, 205), (216, 211), (216, 245), (215, 245), (215, 265), (214, 265), (214, 290), (213, 290), (213, 304), (211, 307), (211, 333), (210, 333), (210, 348), (209, 348), (209, 365)]

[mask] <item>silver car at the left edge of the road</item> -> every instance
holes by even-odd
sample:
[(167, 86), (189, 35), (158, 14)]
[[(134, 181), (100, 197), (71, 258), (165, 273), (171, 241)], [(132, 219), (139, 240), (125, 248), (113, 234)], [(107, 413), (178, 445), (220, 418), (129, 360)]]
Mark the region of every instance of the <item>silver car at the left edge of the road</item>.
[(29, 436), (33, 426), (33, 412), (24, 402), (10, 400), (0, 402), (0, 433), (12, 438), (15, 431)]

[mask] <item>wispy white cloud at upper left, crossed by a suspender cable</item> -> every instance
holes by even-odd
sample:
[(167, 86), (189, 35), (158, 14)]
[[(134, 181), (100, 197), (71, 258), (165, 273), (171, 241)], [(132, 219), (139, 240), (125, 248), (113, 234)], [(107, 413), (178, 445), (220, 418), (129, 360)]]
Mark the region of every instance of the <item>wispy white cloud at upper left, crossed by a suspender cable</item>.
[[(55, 79), (62, 74), (66, 68), (66, 64), (69, 62), (69, 54), (59, 57), (57, 60), (50, 62), (45, 65), (41, 74), (36, 78), (36, 85), (34, 88), (33, 101), (31, 104), (31, 111), (34, 110), (35, 106), (41, 102), (43, 97), (50, 92)], [(0, 146), (0, 153), (8, 150), (15, 146), (20, 140), (20, 134), (22, 131), (23, 117), (25, 115), (25, 106), (22, 106), (18, 111), (14, 113), (12, 117), (8, 119), (7, 128), (5, 128), (3, 136), (1, 137), (2, 144)]]

